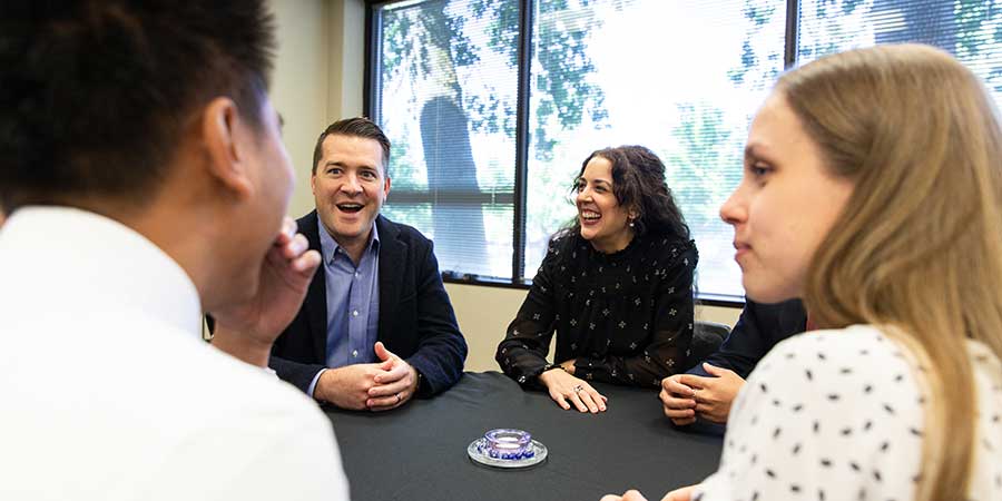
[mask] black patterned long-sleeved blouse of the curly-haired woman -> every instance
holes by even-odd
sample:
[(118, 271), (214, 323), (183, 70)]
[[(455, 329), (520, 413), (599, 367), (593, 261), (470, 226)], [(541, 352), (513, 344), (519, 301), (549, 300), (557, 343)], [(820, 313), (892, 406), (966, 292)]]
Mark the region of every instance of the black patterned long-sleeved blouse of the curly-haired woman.
[(550, 242), (495, 358), (520, 384), (538, 386), (556, 330), (556, 360), (577, 358), (576, 376), (658, 386), (687, 369), (697, 261), (696, 244), (678, 237), (644, 235), (602, 254), (564, 232)]

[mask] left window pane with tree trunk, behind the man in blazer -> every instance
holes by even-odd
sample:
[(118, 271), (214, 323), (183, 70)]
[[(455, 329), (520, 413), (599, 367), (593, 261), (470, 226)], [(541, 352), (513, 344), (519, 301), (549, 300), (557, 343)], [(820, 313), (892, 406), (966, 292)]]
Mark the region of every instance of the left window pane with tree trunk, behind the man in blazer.
[(518, 9), (405, 2), (375, 17), (372, 116), (393, 145), (384, 212), (433, 239), (448, 275), (512, 277), (518, 40), (501, 30)]

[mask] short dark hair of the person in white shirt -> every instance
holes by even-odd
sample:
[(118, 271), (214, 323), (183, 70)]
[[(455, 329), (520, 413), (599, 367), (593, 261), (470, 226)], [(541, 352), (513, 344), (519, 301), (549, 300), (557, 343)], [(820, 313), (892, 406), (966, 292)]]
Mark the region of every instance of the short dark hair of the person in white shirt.
[(0, 195), (141, 205), (212, 99), (261, 129), (274, 46), (264, 0), (3, 1)]

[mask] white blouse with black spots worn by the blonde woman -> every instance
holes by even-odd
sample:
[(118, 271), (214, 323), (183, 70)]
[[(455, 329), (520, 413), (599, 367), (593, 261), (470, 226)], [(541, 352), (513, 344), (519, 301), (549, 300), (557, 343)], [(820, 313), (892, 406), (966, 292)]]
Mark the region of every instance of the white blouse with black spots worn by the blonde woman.
[[(1002, 364), (969, 342), (980, 418), (967, 497), (1002, 500)], [(694, 501), (907, 501), (930, 397), (906, 348), (870, 325), (794, 336), (735, 401), (719, 470)]]

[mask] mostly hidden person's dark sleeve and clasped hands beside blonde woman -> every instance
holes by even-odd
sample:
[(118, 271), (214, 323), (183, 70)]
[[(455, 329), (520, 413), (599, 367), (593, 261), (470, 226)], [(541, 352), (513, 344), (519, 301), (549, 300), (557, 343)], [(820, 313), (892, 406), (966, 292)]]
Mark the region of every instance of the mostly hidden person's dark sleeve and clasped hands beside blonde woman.
[(661, 381), (665, 415), (685, 425), (705, 419), (726, 423), (730, 404), (755, 365), (780, 341), (807, 330), (799, 299), (760, 304), (745, 299), (745, 310), (720, 347), (686, 374)]

